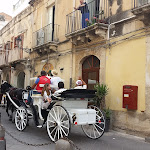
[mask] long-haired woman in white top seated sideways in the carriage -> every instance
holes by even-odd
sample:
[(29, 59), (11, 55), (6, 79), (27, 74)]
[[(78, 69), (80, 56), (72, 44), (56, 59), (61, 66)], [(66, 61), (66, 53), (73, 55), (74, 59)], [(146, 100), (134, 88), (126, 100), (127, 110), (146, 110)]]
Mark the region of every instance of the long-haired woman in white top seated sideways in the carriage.
[(43, 109), (47, 109), (50, 105), (52, 99), (51, 99), (51, 87), (49, 83), (46, 83), (42, 89), (41, 95), (43, 96)]

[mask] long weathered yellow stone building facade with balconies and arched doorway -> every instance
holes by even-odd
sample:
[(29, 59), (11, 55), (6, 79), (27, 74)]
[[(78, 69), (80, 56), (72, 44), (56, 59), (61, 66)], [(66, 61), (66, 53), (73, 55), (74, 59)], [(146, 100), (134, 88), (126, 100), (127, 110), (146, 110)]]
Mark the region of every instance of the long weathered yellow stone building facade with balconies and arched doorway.
[[(105, 83), (112, 127), (148, 135), (150, 2), (86, 2), (89, 16), (85, 22), (81, 11), (74, 10), (78, 0), (31, 0), (0, 31), (1, 80), (25, 88), (41, 70), (56, 69), (66, 88), (73, 87), (79, 76), (89, 89), (96, 82)], [(122, 107), (124, 85), (138, 86), (137, 110)]]

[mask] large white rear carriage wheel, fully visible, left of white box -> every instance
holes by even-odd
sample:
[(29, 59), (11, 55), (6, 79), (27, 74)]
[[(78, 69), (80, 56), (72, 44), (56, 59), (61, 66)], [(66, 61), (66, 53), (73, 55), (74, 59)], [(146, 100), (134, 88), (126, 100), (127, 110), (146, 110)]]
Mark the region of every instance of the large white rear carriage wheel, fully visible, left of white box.
[(71, 128), (67, 110), (59, 105), (54, 106), (47, 117), (47, 132), (53, 142), (67, 137)]

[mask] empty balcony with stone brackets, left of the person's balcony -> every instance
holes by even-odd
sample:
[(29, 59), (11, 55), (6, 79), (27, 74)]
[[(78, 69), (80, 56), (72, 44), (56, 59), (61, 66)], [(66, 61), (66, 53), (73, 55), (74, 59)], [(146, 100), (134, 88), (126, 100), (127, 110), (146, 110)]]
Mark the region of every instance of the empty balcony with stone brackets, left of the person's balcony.
[(33, 50), (38, 54), (57, 50), (59, 25), (49, 24), (33, 33)]

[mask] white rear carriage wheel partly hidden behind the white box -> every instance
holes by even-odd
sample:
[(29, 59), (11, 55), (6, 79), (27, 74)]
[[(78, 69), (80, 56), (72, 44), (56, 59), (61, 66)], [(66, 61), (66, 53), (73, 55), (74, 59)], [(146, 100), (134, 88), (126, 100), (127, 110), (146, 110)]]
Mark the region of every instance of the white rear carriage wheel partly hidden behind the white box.
[(82, 130), (87, 137), (91, 139), (98, 139), (104, 134), (105, 117), (102, 111), (96, 106), (89, 106), (89, 109), (96, 110), (96, 123), (82, 125)]

